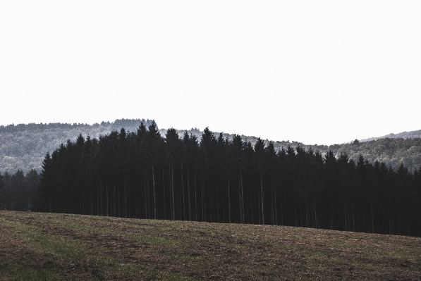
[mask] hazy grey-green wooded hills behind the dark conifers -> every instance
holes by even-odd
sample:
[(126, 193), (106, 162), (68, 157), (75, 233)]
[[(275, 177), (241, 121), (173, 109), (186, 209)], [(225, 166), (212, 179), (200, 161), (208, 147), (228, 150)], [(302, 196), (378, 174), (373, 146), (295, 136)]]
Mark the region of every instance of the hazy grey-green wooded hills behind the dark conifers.
[[(90, 135), (91, 138), (99, 135), (109, 134), (112, 130), (120, 130), (124, 127), (127, 131), (134, 132), (138, 129), (140, 123), (149, 126), (152, 120), (145, 119), (121, 119), (113, 123), (102, 122), (94, 125), (65, 123), (49, 124), (19, 124), (0, 126), (0, 173), (6, 171), (15, 173), (16, 170), (23, 170), (27, 173), (31, 169), (41, 171), (41, 163), (44, 160), (47, 151), (54, 151), (61, 143), (68, 139), (75, 141), (79, 134), (83, 137)], [(159, 124), (158, 124), (159, 125)], [(212, 130), (212, 128), (210, 128)], [(185, 130), (177, 130), (180, 137), (183, 137)], [(164, 137), (166, 129), (159, 130)], [(202, 137), (202, 131), (196, 128), (187, 130), (198, 139)], [(219, 132), (214, 132), (218, 137)], [(224, 138), (232, 138), (233, 134), (224, 133)], [(393, 135), (393, 134), (391, 134)], [(391, 136), (389, 135), (389, 136)], [(400, 136), (400, 137), (398, 137)], [(417, 137), (416, 137), (417, 136)], [(243, 141), (255, 144), (257, 137), (241, 135)], [(387, 166), (398, 168), (401, 161), (409, 170), (420, 168), (421, 166), (421, 130), (413, 132), (401, 132), (393, 137), (382, 139), (361, 140), (359, 144), (334, 144), (327, 145), (307, 145), (301, 142), (276, 141), (274, 147), (276, 150), (286, 148), (288, 145), (293, 147), (303, 146), (305, 149), (312, 148), (320, 151), (322, 154), (331, 150), (336, 156), (346, 153), (354, 161), (358, 160), (360, 154), (368, 161), (384, 162)], [(269, 143), (266, 139), (265, 143)]]

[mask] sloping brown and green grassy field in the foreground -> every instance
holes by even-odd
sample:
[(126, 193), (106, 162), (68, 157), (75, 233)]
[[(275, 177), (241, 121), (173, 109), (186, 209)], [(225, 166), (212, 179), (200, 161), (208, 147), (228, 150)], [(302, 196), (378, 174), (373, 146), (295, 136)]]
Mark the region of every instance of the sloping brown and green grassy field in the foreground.
[(421, 239), (0, 211), (0, 280), (421, 280)]

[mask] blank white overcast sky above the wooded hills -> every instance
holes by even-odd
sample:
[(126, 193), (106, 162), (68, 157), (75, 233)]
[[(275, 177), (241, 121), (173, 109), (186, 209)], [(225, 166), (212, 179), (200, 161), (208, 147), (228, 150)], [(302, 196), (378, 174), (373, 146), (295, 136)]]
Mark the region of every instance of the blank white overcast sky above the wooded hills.
[(0, 125), (421, 129), (421, 1), (1, 1)]

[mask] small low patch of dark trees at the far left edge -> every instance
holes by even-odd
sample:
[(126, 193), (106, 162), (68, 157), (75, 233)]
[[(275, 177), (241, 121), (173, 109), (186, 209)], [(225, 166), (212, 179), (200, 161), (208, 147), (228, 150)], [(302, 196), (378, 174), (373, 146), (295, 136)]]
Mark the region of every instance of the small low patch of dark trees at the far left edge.
[(22, 170), (14, 174), (0, 174), (0, 210), (30, 211), (33, 208), (39, 174), (30, 170), (26, 175)]

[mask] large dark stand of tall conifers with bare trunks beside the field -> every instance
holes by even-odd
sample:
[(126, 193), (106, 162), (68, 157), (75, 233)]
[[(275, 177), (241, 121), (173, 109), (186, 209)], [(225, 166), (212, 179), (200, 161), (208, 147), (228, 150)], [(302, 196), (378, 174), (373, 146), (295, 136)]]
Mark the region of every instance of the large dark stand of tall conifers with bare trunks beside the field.
[(37, 211), (316, 227), (421, 236), (421, 167), (409, 172), (239, 135), (200, 141), (156, 123), (61, 144), (42, 163)]

